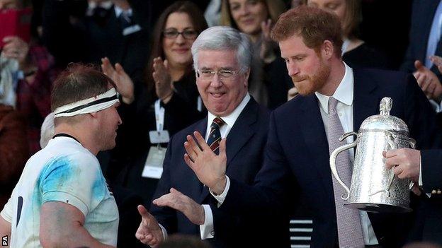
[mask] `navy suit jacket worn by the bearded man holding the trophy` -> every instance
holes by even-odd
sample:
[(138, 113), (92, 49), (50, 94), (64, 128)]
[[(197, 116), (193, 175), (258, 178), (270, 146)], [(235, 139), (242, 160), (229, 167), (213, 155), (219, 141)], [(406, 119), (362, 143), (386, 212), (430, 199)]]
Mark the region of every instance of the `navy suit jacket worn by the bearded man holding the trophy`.
[[(428, 148), (435, 136), (434, 112), (411, 74), (375, 69), (353, 70), (353, 129), (379, 114), (383, 97), (393, 100), (392, 115), (407, 123), (418, 148)], [(231, 180), (220, 207), (236, 214), (290, 211), (297, 194), (311, 208), (311, 247), (335, 247), (337, 238), (329, 147), (316, 96), (297, 96), (271, 114), (264, 165), (255, 185)], [(291, 209), (290, 209), (291, 208)], [(411, 218), (405, 214), (369, 213), (380, 244), (399, 247)]]

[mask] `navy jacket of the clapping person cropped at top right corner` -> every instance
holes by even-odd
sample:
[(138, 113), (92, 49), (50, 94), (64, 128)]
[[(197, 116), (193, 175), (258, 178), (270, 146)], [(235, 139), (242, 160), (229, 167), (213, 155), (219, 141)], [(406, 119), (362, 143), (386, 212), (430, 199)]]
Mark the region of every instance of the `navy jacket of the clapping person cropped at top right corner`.
[[(401, 69), (408, 72), (416, 71), (414, 61), (425, 62), (426, 48), (431, 31), (431, 24), (438, 7), (439, 0), (415, 0), (412, 6), (412, 23), (409, 32), (409, 45)], [(442, 56), (442, 42), (436, 47), (436, 55)], [(441, 72), (437, 66), (431, 66), (431, 71), (436, 73), (439, 80)]]

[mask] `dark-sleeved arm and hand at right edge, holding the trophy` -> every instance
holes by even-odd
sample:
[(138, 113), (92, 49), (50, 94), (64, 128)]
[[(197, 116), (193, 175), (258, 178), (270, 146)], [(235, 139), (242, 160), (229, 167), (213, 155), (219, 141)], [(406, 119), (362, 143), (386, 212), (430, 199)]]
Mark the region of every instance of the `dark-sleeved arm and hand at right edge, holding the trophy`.
[[(399, 178), (419, 182), (421, 195), (414, 230), (416, 240), (442, 244), (442, 150), (402, 148), (385, 152), (385, 164)], [(425, 194), (421, 194), (421, 192)]]

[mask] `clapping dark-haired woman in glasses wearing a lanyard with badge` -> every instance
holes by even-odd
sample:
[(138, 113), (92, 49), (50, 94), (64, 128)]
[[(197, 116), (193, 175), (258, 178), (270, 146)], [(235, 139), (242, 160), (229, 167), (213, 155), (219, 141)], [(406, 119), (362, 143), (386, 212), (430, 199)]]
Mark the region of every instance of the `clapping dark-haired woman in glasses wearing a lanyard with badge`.
[(114, 68), (107, 58), (102, 60), (103, 72), (119, 82), (123, 102), (135, 99), (121, 106), (120, 149), (111, 155), (108, 177), (142, 196), (145, 206), (161, 176), (169, 137), (205, 116), (191, 54), (193, 41), (205, 28), (203, 13), (192, 2), (176, 1), (166, 8), (154, 28), (145, 87), (140, 92), (134, 92), (132, 80), (120, 64)]

